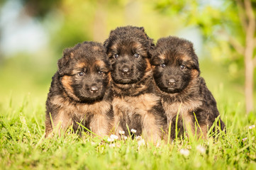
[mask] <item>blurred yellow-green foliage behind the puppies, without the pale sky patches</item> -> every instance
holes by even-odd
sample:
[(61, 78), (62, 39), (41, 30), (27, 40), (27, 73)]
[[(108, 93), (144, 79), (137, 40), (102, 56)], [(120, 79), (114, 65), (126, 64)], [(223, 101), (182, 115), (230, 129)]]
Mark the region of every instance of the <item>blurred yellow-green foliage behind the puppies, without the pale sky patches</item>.
[[(4, 1), (7, 0), (0, 1), (0, 5)], [(217, 5), (207, 0), (13, 1), (20, 1), (25, 14), (40, 22), (49, 42), (35, 54), (18, 53), (0, 61), (0, 79), (4, 80), (0, 92), (3, 94), (9, 94), (6, 89), (47, 94), (64, 48), (85, 40), (104, 42), (111, 30), (126, 25), (145, 27), (155, 42), (164, 36), (177, 35), (187, 27), (199, 28), (204, 38), (203, 55), (199, 56), (201, 71), (209, 88), (227, 84), (228, 92), (243, 93), (243, 57), (235, 52), (226, 35), (233, 35), (244, 43), (235, 1), (216, 0)], [(256, 7), (256, 0), (253, 6)]]

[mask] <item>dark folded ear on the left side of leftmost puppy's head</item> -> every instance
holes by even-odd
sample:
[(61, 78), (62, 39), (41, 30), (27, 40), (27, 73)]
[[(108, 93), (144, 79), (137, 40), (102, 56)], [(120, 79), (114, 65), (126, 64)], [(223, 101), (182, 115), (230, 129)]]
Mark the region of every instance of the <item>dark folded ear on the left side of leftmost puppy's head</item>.
[(63, 51), (63, 57), (57, 62), (58, 72), (61, 76), (68, 72), (69, 60), (71, 60), (73, 57), (74, 53), (72, 52), (72, 49), (66, 48)]

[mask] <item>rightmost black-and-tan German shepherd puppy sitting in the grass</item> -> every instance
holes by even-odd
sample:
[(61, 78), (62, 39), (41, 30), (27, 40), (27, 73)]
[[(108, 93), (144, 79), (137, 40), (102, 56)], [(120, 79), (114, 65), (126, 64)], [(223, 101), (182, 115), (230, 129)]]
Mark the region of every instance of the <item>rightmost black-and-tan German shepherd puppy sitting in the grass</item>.
[[(172, 139), (175, 137), (175, 122), (179, 112), (179, 135), (184, 128), (192, 134), (205, 138), (218, 117), (218, 109), (213, 95), (200, 77), (199, 61), (191, 42), (169, 36), (157, 41), (150, 63), (157, 91), (162, 94), (162, 105), (167, 113), (168, 123), (172, 123)], [(195, 116), (194, 116), (195, 114)], [(196, 120), (199, 126), (195, 126)], [(225, 125), (219, 122), (223, 130)], [(197, 127), (197, 128), (196, 128)]]

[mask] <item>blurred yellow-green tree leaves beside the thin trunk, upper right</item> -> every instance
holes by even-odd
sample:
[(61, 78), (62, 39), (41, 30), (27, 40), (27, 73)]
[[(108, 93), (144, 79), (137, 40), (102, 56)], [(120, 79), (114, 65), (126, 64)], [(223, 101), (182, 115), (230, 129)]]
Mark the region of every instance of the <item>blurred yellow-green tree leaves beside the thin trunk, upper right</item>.
[[(228, 67), (233, 80), (243, 84), (243, 56), (230, 45), (230, 37), (245, 45), (245, 30), (238, 16), (238, 4), (233, 0), (218, 0), (216, 4), (203, 0), (155, 1), (155, 9), (164, 16), (179, 17), (185, 26), (196, 26), (204, 35), (205, 52)], [(252, 1), (256, 8), (256, 1)], [(256, 84), (255, 84), (256, 88)]]

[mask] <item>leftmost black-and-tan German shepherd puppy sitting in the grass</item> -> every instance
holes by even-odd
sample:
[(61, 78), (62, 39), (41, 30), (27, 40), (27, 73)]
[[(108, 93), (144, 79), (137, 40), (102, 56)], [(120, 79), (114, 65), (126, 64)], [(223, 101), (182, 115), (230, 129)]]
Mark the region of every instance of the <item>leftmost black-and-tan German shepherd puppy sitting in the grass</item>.
[(67, 48), (58, 61), (46, 101), (46, 137), (53, 128), (58, 134), (78, 123), (96, 135), (108, 135), (113, 120), (110, 64), (99, 42), (83, 42)]

